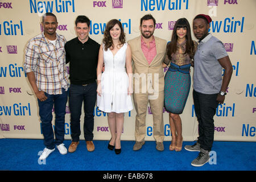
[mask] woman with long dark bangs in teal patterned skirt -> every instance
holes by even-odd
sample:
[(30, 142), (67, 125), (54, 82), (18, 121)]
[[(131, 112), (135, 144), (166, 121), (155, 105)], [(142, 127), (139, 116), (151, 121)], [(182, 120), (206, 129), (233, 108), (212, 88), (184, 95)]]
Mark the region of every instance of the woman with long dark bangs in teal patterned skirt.
[(169, 111), (172, 133), (170, 150), (181, 151), (182, 126), (179, 114), (183, 112), (191, 86), (190, 67), (197, 43), (191, 38), (188, 20), (180, 18), (176, 21), (171, 42), (167, 44), (167, 56), (163, 68), (170, 67), (164, 77), (164, 106)]

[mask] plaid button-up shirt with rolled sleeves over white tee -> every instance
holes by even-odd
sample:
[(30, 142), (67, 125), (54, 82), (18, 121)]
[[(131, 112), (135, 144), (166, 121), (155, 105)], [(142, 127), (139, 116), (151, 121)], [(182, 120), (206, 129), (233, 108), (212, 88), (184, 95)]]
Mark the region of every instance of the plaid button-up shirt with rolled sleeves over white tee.
[(63, 35), (56, 34), (56, 45), (53, 45), (43, 32), (28, 42), (24, 69), (26, 73), (35, 73), (39, 90), (48, 94), (62, 94), (62, 88), (68, 90), (64, 49), (66, 42)]

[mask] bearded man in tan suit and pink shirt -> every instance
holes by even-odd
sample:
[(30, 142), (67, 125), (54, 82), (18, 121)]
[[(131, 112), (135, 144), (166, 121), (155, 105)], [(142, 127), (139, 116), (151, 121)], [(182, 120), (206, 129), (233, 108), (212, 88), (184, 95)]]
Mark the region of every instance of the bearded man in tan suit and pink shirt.
[(153, 36), (155, 19), (152, 15), (141, 18), (141, 36), (128, 41), (133, 59), (133, 99), (137, 111), (135, 121), (135, 139), (133, 150), (143, 146), (146, 136), (146, 113), (148, 101), (154, 121), (153, 136), (156, 149), (164, 150), (164, 73), (162, 62), (166, 55), (166, 40)]

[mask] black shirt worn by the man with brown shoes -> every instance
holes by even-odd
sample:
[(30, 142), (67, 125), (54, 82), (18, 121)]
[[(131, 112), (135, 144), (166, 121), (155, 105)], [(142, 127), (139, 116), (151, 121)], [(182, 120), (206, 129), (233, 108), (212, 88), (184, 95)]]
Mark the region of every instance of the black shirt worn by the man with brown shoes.
[(65, 44), (71, 84), (85, 85), (96, 81), (99, 49), (100, 44), (90, 38), (84, 44), (78, 38)]

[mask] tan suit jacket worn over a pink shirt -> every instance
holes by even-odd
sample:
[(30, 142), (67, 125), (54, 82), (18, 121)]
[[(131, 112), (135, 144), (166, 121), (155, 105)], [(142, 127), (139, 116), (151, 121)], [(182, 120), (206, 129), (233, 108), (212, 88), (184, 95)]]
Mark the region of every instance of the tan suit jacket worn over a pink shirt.
[[(141, 36), (138, 36), (137, 38), (128, 41), (128, 44), (131, 47), (133, 60), (134, 93), (146, 92), (148, 94), (151, 94), (152, 90), (148, 90), (148, 88), (152, 88), (154, 89), (154, 91), (158, 92), (164, 90), (164, 73), (162, 63), (164, 57), (166, 56), (167, 42), (166, 40), (160, 39), (156, 36), (154, 36), (154, 38), (156, 44), (156, 56), (150, 64), (148, 64), (146, 57), (144, 56), (144, 53), (141, 49)], [(149, 87), (150, 84), (151, 87)]]

